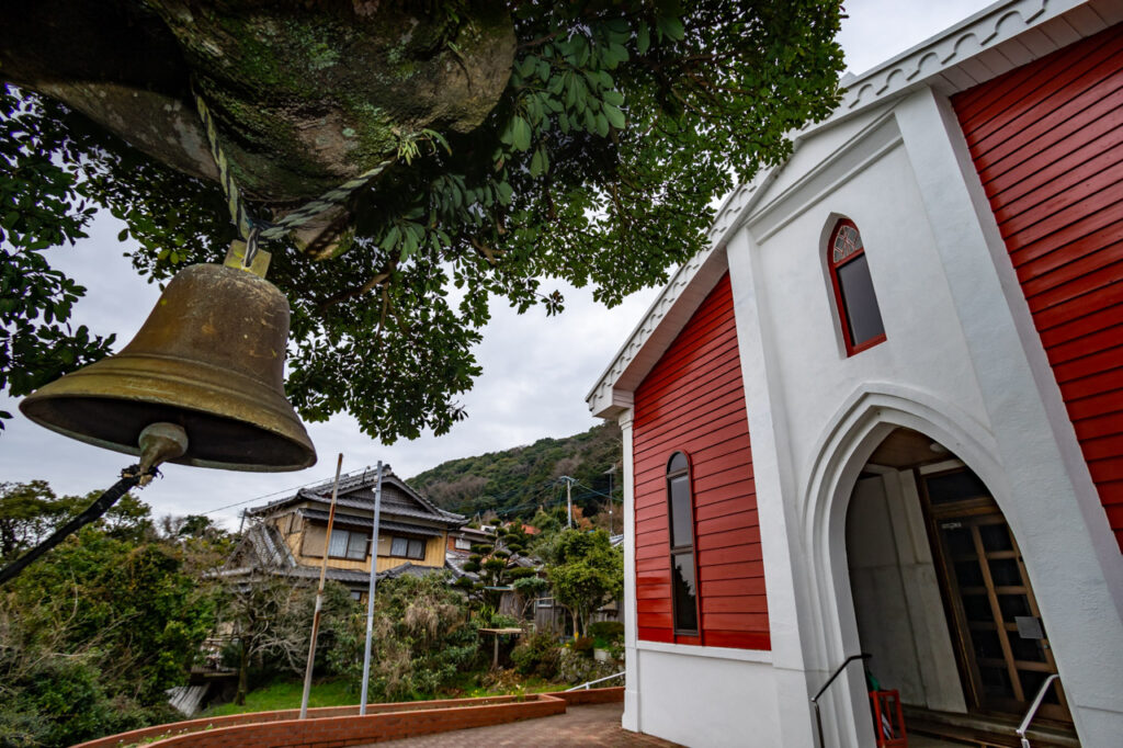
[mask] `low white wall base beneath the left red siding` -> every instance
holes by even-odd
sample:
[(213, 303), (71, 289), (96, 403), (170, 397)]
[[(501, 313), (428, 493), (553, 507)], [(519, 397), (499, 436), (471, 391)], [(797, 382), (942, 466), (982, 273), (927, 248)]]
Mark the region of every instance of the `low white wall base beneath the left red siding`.
[(720, 651), (713, 647), (705, 648), (710, 656), (699, 656), (699, 649), (638, 650), (641, 730), (684, 746), (786, 745), (772, 665), (712, 656)]

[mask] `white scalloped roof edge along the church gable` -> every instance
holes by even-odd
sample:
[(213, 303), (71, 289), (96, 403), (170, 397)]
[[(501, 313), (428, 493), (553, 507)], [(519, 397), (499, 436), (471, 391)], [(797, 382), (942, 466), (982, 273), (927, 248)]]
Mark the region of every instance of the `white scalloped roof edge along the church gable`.
[[(873, 70), (848, 77), (833, 113), (795, 134), (795, 148), (859, 112), (922, 86), (951, 95), (1121, 21), (1120, 0), (999, 0)], [(614, 418), (631, 407), (632, 391), (724, 272), (725, 243), (752, 212), (763, 188), (783, 168), (763, 170), (725, 198), (710, 229), (710, 248), (678, 268), (585, 396), (594, 416)]]

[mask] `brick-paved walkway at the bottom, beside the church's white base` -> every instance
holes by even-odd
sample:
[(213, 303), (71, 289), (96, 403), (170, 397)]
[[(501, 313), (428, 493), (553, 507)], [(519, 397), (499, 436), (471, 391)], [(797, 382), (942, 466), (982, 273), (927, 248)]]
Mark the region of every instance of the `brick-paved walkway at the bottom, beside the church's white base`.
[(419, 738), (387, 740), (363, 748), (444, 748), (446, 746), (486, 746), (487, 748), (513, 748), (514, 746), (651, 746), (674, 748), (649, 735), (629, 732), (620, 727), (623, 714), (622, 702), (614, 704), (591, 704), (569, 706), (565, 714), (539, 717), (535, 720), (493, 724), (471, 730), (453, 730)]

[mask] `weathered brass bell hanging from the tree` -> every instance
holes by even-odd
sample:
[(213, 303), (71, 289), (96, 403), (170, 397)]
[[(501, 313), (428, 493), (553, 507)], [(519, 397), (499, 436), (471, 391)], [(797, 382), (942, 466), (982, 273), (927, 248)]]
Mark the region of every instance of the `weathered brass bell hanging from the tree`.
[(289, 302), (263, 277), (222, 265), (175, 275), (124, 350), (47, 384), (20, 404), (40, 426), (131, 455), (146, 427), (188, 435), (170, 462), (296, 471), (316, 449), (284, 395)]

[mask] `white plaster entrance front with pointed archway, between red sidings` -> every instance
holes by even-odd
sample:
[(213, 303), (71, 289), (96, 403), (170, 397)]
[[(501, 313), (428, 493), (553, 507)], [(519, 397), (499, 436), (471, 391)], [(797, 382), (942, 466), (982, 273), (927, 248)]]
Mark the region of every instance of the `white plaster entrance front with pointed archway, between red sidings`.
[[(1025, 555), (1081, 739), (1111, 745), (1123, 733), (1123, 562), (1105, 550), (1111, 532), (1071, 459), (1071, 426), (1026, 334), (962, 136), (929, 90), (848, 131), (844, 144), (830, 130), (830, 142), (806, 144), (804, 154), (825, 157), (793, 159), (763, 188), (728, 248), (780, 703), (795, 704), (801, 688), (806, 699), (858, 649), (846, 507), (868, 455), (909, 426), (990, 487)], [(824, 252), (843, 216), (865, 240), (887, 336), (850, 357)], [(910, 604), (931, 604), (922, 598)], [(825, 701), (836, 745), (871, 737), (853, 669)], [(785, 722), (806, 719), (782, 709)]]

